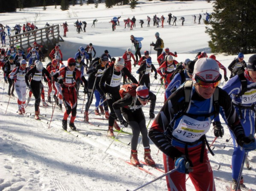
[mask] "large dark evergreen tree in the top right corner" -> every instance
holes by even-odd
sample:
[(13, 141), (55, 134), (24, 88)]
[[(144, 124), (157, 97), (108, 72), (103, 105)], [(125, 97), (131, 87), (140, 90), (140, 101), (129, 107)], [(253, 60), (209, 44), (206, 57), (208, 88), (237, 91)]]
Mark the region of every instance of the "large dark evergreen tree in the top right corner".
[(256, 52), (256, 2), (216, 0), (213, 7), (212, 21), (206, 27), (212, 52)]

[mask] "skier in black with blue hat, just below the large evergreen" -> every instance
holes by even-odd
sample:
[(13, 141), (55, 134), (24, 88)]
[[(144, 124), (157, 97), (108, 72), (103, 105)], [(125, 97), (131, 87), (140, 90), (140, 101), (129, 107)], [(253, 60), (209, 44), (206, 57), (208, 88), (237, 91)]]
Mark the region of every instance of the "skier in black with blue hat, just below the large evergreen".
[(238, 71), (244, 71), (246, 67), (247, 65), (244, 61), (244, 54), (239, 52), (238, 57), (235, 58), (227, 67), (229, 71), (231, 71), (230, 78), (234, 77)]

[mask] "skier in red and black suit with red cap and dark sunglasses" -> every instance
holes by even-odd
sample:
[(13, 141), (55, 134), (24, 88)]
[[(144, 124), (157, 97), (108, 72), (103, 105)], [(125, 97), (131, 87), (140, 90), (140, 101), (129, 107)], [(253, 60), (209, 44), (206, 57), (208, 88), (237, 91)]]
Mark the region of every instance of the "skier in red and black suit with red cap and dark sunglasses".
[[(62, 79), (58, 79), (59, 76), (62, 76)], [(61, 68), (56, 74), (53, 75), (54, 81), (61, 84), (61, 94), (62, 100), (65, 105), (66, 111), (62, 119), (62, 128), (67, 131), (67, 118), (70, 117), (69, 127), (72, 130), (76, 130), (74, 121), (76, 119), (76, 107), (77, 107), (77, 95), (76, 95), (76, 81), (82, 80), (84, 83), (84, 93), (87, 92), (87, 80), (81, 71), (76, 69), (76, 60), (74, 58), (69, 58), (67, 60), (67, 66)]]

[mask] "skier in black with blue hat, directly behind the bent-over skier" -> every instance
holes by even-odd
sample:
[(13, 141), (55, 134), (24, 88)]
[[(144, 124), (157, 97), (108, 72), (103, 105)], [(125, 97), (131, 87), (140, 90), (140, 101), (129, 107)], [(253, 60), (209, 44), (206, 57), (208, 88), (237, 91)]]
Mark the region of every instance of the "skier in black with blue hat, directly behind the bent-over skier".
[(140, 85), (144, 85), (150, 90), (150, 72), (155, 72), (154, 79), (157, 80), (157, 69), (152, 64), (151, 58), (146, 59), (144, 63), (140, 65), (140, 68), (136, 71), (139, 76)]

